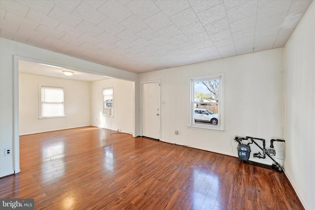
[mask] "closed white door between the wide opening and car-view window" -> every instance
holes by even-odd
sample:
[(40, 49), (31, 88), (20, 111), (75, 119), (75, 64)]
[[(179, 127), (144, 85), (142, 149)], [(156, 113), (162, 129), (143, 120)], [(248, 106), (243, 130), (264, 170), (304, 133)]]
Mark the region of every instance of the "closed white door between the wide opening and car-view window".
[(160, 139), (160, 84), (142, 84), (142, 136)]

